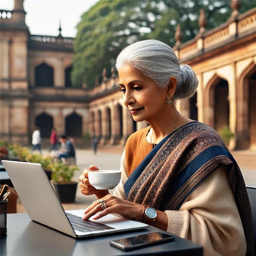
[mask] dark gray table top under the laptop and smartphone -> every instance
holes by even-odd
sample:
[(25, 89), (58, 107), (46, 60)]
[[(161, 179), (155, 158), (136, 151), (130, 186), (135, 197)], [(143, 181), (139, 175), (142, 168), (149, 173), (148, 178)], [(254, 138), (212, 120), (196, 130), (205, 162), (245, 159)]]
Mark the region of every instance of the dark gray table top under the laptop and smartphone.
[[(31, 221), (27, 213), (7, 214), (7, 234), (1, 236), (1, 256), (114, 256), (114, 255), (203, 255), (203, 248), (175, 236), (175, 240), (125, 252), (109, 245), (111, 240), (149, 232), (164, 232), (149, 227), (141, 231), (75, 239)], [(166, 232), (164, 232), (166, 233)]]

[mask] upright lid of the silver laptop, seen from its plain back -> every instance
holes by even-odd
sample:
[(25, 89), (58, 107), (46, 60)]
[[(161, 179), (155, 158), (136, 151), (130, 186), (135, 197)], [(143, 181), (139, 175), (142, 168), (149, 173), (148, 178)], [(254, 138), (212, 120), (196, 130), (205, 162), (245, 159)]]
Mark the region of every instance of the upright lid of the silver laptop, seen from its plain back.
[(2, 163), (29, 218), (76, 237), (41, 164), (7, 160)]

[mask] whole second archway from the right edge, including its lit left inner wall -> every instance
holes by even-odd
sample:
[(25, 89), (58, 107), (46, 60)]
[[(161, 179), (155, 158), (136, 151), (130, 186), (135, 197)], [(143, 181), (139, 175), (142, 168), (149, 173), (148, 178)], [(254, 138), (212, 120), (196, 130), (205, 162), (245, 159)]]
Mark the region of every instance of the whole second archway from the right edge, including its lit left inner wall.
[(220, 132), (229, 125), (228, 82), (214, 75), (205, 88), (205, 123)]

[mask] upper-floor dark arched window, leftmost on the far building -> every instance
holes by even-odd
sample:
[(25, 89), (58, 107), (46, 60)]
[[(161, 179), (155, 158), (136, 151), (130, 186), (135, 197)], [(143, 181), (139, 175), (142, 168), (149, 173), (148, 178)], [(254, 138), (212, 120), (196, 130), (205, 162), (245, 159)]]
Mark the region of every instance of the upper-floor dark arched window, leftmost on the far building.
[(36, 86), (53, 86), (53, 68), (45, 63), (36, 66)]

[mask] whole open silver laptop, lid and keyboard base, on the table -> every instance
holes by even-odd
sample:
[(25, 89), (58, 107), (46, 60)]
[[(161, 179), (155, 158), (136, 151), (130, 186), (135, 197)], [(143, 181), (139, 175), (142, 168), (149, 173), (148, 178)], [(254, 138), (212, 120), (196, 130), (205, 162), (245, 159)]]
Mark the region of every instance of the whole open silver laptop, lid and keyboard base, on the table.
[(84, 221), (84, 210), (64, 211), (41, 164), (6, 160), (2, 163), (31, 220), (75, 238), (148, 227), (112, 214)]

